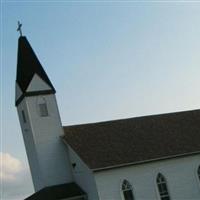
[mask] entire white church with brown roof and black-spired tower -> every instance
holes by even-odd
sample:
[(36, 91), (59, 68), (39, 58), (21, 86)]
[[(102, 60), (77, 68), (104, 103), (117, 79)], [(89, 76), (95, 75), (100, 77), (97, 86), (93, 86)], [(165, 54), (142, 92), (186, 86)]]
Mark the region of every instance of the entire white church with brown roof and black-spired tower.
[(21, 35), (15, 106), (35, 189), (26, 200), (200, 199), (200, 110), (64, 126), (55, 94)]

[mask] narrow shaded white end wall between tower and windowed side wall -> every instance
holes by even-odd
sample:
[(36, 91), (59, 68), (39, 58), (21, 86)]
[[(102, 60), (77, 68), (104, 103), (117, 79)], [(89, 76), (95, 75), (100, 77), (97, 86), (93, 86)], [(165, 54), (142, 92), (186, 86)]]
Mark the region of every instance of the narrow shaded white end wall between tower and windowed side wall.
[(88, 200), (98, 200), (98, 193), (93, 172), (79, 158), (79, 156), (69, 147), (70, 160), (73, 167), (73, 176), (75, 182), (87, 193)]

